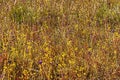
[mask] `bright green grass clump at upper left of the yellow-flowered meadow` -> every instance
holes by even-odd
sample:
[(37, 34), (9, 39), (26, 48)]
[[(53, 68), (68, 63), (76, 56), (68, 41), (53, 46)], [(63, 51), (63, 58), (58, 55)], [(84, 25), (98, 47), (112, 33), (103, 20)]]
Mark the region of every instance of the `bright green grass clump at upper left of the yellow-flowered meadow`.
[(22, 3), (13, 6), (10, 12), (10, 18), (18, 24), (35, 24), (37, 22), (38, 14), (34, 8), (28, 7)]

